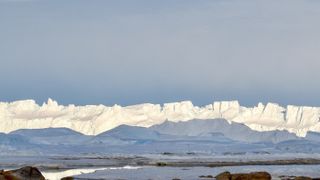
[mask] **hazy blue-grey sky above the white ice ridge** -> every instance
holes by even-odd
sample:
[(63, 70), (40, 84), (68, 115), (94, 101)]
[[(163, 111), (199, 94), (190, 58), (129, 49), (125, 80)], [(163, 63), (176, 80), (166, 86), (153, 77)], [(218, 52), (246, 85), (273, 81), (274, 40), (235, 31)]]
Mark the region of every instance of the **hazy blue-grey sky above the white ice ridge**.
[(0, 101), (320, 106), (317, 0), (0, 0)]

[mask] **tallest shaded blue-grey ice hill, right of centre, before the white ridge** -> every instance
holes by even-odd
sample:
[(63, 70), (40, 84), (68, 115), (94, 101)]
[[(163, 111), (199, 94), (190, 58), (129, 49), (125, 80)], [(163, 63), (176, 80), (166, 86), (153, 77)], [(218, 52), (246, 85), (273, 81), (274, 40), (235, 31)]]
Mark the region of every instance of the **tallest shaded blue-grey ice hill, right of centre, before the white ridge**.
[(246, 125), (224, 119), (190, 120), (186, 122), (166, 121), (160, 125), (151, 126), (157, 132), (180, 136), (211, 136), (212, 133), (221, 133), (225, 137), (242, 142), (272, 142), (278, 143), (299, 138), (288, 131), (259, 132), (251, 130)]

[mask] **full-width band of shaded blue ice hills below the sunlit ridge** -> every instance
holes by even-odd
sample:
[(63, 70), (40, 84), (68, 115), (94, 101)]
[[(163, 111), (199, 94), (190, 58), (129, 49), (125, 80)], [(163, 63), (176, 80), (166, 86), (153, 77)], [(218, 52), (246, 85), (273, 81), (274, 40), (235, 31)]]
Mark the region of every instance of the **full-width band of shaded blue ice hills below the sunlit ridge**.
[(66, 128), (0, 133), (1, 155), (319, 153), (318, 134), (299, 138), (287, 131), (258, 132), (227, 120), (166, 121), (149, 128), (120, 125), (96, 136)]

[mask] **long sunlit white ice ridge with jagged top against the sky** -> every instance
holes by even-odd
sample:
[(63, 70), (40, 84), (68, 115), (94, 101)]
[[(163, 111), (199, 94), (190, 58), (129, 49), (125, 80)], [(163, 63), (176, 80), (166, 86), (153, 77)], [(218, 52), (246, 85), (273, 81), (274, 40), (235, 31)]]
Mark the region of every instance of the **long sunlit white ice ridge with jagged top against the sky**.
[(166, 120), (178, 122), (192, 119), (226, 119), (243, 123), (253, 130), (287, 130), (304, 137), (308, 131), (320, 132), (320, 108), (274, 103), (255, 107), (240, 106), (238, 101), (214, 102), (204, 107), (190, 101), (160, 104), (59, 105), (48, 99), (42, 106), (34, 100), (0, 102), (0, 132), (17, 129), (66, 127), (87, 135), (97, 135), (126, 124), (149, 127)]

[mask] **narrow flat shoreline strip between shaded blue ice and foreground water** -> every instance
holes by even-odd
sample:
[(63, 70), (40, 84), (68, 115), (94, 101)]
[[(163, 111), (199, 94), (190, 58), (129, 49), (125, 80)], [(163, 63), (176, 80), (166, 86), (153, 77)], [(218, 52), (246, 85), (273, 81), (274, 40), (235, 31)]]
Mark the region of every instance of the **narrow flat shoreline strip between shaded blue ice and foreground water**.
[[(174, 159), (166, 157), (29, 157), (22, 161), (19, 157), (11, 162), (0, 162), (0, 169), (13, 169), (21, 166), (36, 166), (41, 170), (70, 170), (82, 168), (108, 168), (108, 167), (237, 167), (237, 166), (277, 166), (277, 165), (320, 165), (319, 158), (294, 158), (276, 160), (240, 160), (221, 161), (205, 158)], [(34, 159), (33, 159), (34, 158)], [(8, 160), (7, 160), (8, 161)]]

